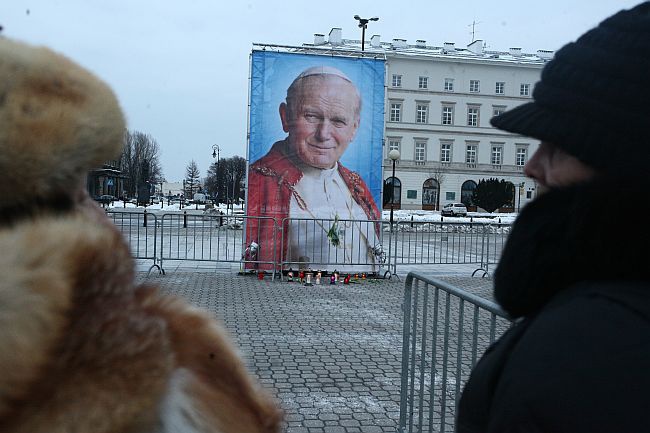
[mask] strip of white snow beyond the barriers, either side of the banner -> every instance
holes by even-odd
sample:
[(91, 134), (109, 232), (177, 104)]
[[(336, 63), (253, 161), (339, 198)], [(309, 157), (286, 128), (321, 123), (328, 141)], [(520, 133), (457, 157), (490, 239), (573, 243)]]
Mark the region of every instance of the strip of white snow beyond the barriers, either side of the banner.
[[(211, 205), (208, 205), (210, 208)], [(120, 211), (144, 211), (144, 206), (136, 206), (133, 203), (124, 204), (122, 201), (115, 201), (108, 206), (109, 209)], [(214, 207), (213, 207), (214, 209)], [(230, 207), (226, 207), (225, 204), (219, 204), (216, 207), (219, 211), (223, 212), (224, 215), (231, 215), (233, 210)], [(188, 205), (180, 207), (179, 203), (167, 205), (165, 203), (153, 204), (146, 207), (147, 212), (154, 213), (166, 213), (166, 212), (184, 212), (187, 211), (188, 214), (204, 213), (206, 210), (206, 205)], [(236, 205), (234, 208), (235, 215), (243, 215), (244, 209), (243, 206)], [(469, 212), (467, 217), (442, 217), (439, 211), (429, 211), (429, 210), (406, 210), (399, 209), (393, 211), (393, 221), (425, 221), (425, 222), (475, 222), (475, 223), (494, 223), (500, 222), (504, 224), (511, 224), (517, 218), (516, 213), (486, 213), (486, 212)], [(382, 212), (382, 219), (384, 221), (390, 220), (390, 210), (384, 210)]]

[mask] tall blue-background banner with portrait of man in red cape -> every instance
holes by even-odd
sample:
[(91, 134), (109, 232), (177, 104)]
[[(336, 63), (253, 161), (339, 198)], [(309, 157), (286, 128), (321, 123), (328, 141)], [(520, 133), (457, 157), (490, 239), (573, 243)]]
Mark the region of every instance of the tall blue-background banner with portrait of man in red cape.
[(375, 270), (384, 61), (253, 51), (251, 62), (246, 234), (258, 267)]

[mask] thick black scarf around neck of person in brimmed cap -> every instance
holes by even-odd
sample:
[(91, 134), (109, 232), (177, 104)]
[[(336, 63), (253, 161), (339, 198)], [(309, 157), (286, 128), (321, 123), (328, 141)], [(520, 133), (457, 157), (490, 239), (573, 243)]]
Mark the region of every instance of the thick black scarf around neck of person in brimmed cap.
[(578, 282), (650, 282), (646, 183), (599, 179), (527, 205), (494, 275), (501, 306), (521, 317)]

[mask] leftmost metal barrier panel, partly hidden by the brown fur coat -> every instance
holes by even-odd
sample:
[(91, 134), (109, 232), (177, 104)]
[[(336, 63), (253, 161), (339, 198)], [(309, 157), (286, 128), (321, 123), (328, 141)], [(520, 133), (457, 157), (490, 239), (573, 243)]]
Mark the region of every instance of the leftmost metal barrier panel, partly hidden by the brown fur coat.
[(156, 243), (158, 217), (155, 214), (107, 210), (106, 216), (122, 232), (134, 258), (152, 260), (151, 268), (159, 267)]

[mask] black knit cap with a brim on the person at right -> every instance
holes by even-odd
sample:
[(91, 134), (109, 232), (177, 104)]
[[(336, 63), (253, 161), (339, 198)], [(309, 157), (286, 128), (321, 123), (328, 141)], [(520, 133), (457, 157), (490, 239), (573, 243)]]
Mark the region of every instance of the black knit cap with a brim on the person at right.
[(562, 47), (533, 102), (490, 120), (553, 143), (611, 174), (650, 167), (650, 2), (607, 18)]

